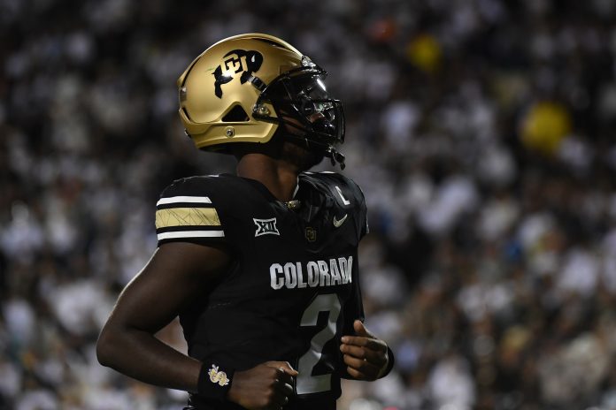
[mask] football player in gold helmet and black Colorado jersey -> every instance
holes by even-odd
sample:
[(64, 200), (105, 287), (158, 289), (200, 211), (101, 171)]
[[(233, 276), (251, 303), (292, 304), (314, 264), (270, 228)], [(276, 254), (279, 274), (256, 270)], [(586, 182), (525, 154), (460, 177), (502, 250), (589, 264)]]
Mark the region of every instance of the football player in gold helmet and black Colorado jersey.
[[(237, 175), (176, 180), (157, 203), (158, 249), (120, 294), (99, 361), (189, 391), (188, 409), (335, 409), (340, 378), (375, 380), (393, 355), (364, 325), (359, 187), (343, 166), (341, 103), (319, 65), (266, 34), (218, 42), (178, 80), (197, 148)], [(154, 334), (180, 317), (189, 355)]]

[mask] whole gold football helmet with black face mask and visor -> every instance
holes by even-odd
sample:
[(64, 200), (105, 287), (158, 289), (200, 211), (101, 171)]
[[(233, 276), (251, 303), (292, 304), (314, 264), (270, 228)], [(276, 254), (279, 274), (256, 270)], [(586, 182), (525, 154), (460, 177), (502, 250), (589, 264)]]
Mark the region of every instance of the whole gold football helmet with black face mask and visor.
[(180, 117), (197, 148), (228, 151), (281, 134), (341, 163), (342, 104), (327, 94), (327, 72), (288, 42), (241, 34), (215, 43), (178, 79)]

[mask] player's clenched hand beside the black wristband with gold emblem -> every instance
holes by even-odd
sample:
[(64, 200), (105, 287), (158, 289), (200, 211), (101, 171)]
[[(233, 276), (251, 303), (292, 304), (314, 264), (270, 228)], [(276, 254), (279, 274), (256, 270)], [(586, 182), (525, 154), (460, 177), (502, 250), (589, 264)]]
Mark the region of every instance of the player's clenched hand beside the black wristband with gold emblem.
[(287, 361), (266, 361), (236, 371), (227, 398), (249, 410), (279, 410), (293, 394), (297, 371)]

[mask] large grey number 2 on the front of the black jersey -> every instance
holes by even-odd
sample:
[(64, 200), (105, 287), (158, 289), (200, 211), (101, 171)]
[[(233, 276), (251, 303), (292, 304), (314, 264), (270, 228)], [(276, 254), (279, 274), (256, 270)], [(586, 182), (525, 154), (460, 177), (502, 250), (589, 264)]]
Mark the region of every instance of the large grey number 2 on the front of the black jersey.
[(323, 346), (335, 337), (335, 326), (340, 315), (340, 300), (335, 293), (317, 295), (304, 310), (301, 326), (316, 326), (320, 312), (327, 312), (327, 326), (310, 341), (308, 352), (299, 358), (297, 364), (297, 394), (310, 394), (331, 389), (331, 374), (312, 376), (312, 369), (319, 363)]

